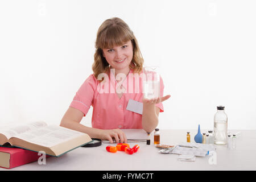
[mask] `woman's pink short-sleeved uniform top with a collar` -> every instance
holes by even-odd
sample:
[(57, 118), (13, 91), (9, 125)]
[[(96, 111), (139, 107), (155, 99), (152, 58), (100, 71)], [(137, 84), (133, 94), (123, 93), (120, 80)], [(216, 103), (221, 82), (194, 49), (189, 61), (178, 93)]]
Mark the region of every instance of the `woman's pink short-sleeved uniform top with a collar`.
[[(122, 85), (118, 85), (111, 72), (106, 79), (104, 78), (108, 81), (104, 86), (102, 86), (103, 82), (99, 82), (93, 74), (90, 75), (76, 92), (70, 107), (80, 110), (85, 116), (90, 106), (93, 106), (92, 127), (97, 129), (142, 129), (142, 114), (126, 110), (130, 99), (142, 102), (143, 98), (143, 79), (139, 77), (139, 88), (136, 88), (134, 86), (136, 78), (131, 73), (133, 73), (132, 69)], [(125, 90), (121, 98), (115, 93), (117, 86)], [(163, 80), (160, 77), (160, 97), (163, 97), (163, 90)], [(155, 106), (163, 112), (162, 102)]]

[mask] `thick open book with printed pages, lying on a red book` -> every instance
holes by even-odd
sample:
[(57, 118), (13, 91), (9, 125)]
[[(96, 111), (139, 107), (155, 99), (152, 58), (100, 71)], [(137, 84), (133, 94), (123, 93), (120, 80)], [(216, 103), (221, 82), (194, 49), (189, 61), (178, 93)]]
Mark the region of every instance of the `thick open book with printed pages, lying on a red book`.
[(92, 142), (88, 134), (49, 125), (38, 121), (14, 127), (0, 126), (0, 145), (15, 146), (31, 151), (44, 151), (58, 157), (86, 143)]

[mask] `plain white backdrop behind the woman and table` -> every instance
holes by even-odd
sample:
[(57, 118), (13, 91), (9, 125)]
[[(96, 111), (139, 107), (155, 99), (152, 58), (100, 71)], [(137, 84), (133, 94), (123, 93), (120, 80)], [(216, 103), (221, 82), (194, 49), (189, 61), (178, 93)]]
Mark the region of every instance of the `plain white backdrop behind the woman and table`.
[[(224, 105), (228, 129), (256, 129), (255, 1), (0, 1), (0, 124), (59, 125), (92, 73), (105, 19), (119, 17), (158, 65), (160, 129), (213, 129)], [(90, 126), (92, 107), (82, 123)]]

